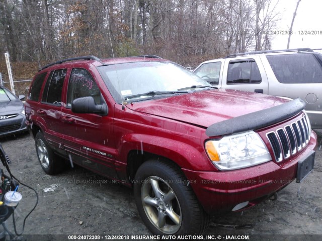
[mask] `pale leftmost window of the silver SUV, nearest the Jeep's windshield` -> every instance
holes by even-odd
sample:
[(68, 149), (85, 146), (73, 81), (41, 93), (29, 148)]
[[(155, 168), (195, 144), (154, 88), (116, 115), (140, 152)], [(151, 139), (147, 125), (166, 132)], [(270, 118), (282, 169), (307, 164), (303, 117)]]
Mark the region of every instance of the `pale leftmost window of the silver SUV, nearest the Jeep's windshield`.
[(221, 62), (201, 65), (194, 73), (212, 85), (218, 85)]

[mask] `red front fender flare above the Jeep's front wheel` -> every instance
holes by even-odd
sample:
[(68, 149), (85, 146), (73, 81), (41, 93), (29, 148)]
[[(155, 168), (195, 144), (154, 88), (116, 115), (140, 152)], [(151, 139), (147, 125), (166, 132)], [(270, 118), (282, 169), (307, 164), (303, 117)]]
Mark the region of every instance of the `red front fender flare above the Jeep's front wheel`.
[(127, 135), (120, 142), (116, 169), (120, 180), (131, 180), (137, 169), (147, 160), (163, 159), (180, 169), (213, 170), (204, 150), (192, 145), (151, 135)]

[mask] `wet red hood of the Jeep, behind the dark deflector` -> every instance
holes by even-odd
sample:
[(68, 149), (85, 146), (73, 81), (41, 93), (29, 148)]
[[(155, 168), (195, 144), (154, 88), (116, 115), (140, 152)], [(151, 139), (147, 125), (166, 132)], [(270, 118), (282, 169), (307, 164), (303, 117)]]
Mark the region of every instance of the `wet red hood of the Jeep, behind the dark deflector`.
[(208, 128), (214, 123), (285, 102), (288, 100), (265, 94), (215, 89), (134, 102), (127, 107), (134, 111)]

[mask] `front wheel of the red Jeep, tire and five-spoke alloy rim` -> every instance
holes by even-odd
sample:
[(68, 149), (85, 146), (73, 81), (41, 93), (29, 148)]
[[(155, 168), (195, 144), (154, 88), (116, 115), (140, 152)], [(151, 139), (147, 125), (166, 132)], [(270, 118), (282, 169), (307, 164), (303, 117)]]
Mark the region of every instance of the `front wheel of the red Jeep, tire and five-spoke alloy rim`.
[(209, 223), (184, 174), (165, 160), (144, 162), (135, 175), (138, 212), (157, 235), (199, 234)]

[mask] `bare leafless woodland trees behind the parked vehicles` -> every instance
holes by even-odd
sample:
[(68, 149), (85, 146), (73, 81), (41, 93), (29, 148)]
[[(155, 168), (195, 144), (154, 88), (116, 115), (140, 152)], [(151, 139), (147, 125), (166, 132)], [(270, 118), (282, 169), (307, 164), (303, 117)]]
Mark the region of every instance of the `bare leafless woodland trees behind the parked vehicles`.
[[(155, 54), (198, 64), (271, 48), (273, 0), (0, 0), (0, 49), (39, 66)], [(3, 54), (2, 54), (2, 57)]]

